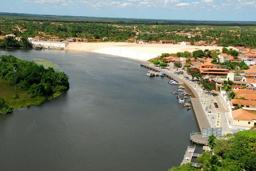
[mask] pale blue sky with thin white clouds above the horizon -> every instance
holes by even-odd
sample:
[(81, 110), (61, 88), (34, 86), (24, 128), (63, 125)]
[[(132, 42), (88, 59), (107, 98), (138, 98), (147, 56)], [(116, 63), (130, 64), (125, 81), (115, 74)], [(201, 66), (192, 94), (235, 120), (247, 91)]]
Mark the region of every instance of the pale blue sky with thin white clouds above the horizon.
[(1, 0), (0, 12), (168, 20), (256, 21), (256, 0)]

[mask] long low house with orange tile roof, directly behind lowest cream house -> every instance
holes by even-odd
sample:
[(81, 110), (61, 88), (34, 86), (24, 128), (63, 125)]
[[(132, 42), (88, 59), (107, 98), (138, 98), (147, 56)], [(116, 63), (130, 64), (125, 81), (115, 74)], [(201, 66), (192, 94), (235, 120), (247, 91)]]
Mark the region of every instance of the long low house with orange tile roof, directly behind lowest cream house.
[(256, 110), (256, 100), (231, 99), (231, 108), (241, 105), (244, 110)]

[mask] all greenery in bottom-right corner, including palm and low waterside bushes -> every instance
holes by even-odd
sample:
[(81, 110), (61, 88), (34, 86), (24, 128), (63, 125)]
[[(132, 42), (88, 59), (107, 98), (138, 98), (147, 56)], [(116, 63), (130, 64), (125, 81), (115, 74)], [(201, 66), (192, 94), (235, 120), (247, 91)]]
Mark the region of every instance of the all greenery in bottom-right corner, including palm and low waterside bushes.
[[(209, 137), (211, 152), (197, 158), (205, 171), (255, 171), (256, 170), (256, 130), (255, 128), (227, 134), (223, 137)], [(173, 167), (169, 171), (198, 171), (191, 163)]]

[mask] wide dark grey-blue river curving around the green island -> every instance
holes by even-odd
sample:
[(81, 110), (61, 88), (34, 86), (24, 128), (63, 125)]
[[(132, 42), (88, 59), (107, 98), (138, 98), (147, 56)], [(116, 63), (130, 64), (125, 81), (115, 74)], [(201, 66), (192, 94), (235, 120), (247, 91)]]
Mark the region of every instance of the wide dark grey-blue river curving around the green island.
[(127, 58), (61, 50), (0, 49), (0, 55), (56, 64), (70, 89), (40, 106), (0, 115), (4, 171), (167, 171), (180, 165), (192, 110), (168, 78), (146, 76)]

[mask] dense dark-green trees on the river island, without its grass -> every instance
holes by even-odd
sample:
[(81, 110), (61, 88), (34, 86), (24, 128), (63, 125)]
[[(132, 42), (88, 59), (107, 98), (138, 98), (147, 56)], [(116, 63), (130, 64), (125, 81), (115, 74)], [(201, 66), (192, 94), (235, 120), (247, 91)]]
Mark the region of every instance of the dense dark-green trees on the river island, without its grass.
[(69, 89), (68, 76), (64, 72), (45, 69), (42, 65), (14, 56), (0, 56), (0, 78), (9, 80), (12, 85), (16, 81), (18, 86), (28, 90), (31, 97), (50, 96)]

